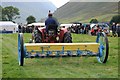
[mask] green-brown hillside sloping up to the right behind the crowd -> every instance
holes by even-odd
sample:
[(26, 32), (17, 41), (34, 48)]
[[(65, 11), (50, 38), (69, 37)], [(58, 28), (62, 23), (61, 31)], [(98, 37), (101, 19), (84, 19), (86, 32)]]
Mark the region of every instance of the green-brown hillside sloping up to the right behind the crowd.
[(107, 22), (117, 12), (117, 2), (68, 2), (58, 8), (54, 16), (62, 23), (89, 22), (92, 18)]

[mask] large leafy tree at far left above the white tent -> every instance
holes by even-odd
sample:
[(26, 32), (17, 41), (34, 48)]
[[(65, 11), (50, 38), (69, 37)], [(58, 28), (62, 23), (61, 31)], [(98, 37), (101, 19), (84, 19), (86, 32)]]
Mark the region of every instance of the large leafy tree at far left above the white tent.
[(7, 6), (2, 8), (2, 20), (3, 21), (13, 21), (16, 18), (20, 18), (18, 15), (19, 9), (13, 6)]

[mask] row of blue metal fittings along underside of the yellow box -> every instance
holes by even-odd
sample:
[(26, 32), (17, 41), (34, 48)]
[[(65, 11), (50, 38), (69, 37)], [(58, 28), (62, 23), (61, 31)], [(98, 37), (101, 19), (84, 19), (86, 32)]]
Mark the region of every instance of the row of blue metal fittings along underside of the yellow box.
[[(24, 48), (25, 48), (25, 47), (24, 47)], [(30, 57), (31, 57), (31, 54), (32, 54), (33, 52), (36, 53), (36, 54), (34, 54), (35, 57), (41, 57), (39, 54), (46, 54), (46, 57), (49, 57), (49, 55), (52, 54), (53, 52), (56, 53), (56, 57), (60, 57), (60, 54), (61, 54), (61, 55), (62, 55), (62, 54), (67, 54), (67, 56), (72, 56), (72, 55), (73, 55), (73, 51), (70, 51), (70, 50), (65, 51), (65, 50), (64, 50), (64, 46), (62, 47), (62, 51), (50, 51), (50, 50), (44, 51), (44, 48), (42, 49), (41, 52), (39, 52), (39, 51), (34, 51), (34, 50), (32, 50), (32, 51), (30, 51), (30, 52), (27, 52), (26, 49), (24, 49), (24, 50), (25, 50), (25, 55), (26, 55), (25, 57), (26, 57), (26, 58), (30, 58)], [(76, 50), (75, 52), (76, 52), (76, 56), (81, 56), (82, 54), (85, 54), (84, 52), (86, 52), (86, 55), (89, 55), (89, 56), (94, 55), (92, 51), (88, 51), (88, 50), (82, 51), (82, 50), (80, 50), (79, 48), (78, 48), (78, 50)], [(33, 56), (33, 55), (32, 55), (32, 56)]]

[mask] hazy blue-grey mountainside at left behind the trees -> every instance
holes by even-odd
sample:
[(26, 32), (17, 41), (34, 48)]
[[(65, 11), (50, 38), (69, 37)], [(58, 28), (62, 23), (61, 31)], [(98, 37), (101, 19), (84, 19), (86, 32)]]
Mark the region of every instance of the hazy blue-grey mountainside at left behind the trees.
[(26, 18), (29, 15), (33, 15), (36, 21), (41, 18), (47, 17), (48, 11), (54, 12), (56, 10), (55, 5), (50, 1), (48, 2), (3, 2), (2, 7), (14, 6), (20, 10), (20, 19), (15, 20), (18, 23), (25, 23)]

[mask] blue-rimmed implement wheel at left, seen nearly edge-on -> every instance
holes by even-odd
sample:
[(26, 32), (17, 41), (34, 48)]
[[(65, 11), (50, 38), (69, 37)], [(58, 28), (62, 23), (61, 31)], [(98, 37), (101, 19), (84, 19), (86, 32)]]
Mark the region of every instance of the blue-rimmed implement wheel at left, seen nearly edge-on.
[(24, 64), (24, 47), (23, 47), (23, 34), (19, 33), (18, 34), (18, 60), (19, 60), (19, 65), (23, 66)]

